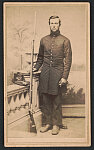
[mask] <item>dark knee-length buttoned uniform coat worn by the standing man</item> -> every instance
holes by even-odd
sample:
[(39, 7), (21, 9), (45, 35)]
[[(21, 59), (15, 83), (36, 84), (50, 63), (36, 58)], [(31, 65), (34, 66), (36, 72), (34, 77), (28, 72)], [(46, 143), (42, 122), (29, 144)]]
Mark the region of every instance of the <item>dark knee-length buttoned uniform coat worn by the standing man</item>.
[(40, 41), (39, 54), (35, 68), (38, 70), (42, 65), (39, 80), (39, 91), (57, 95), (59, 81), (67, 79), (72, 62), (71, 44), (68, 38), (57, 31), (43, 37)]

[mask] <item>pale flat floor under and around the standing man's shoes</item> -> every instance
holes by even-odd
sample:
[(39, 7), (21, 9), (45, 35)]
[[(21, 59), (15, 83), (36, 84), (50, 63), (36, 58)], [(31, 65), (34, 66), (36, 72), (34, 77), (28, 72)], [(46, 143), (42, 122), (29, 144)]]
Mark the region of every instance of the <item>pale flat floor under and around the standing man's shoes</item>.
[(60, 129), (58, 135), (52, 135), (51, 130), (45, 133), (36, 133), (34, 130), (32, 132), (25, 131), (25, 124), (23, 124), (22, 130), (9, 130), (8, 138), (32, 138), (32, 137), (62, 137), (62, 138), (84, 138), (85, 137), (85, 118), (64, 118), (63, 124), (67, 126), (67, 129)]

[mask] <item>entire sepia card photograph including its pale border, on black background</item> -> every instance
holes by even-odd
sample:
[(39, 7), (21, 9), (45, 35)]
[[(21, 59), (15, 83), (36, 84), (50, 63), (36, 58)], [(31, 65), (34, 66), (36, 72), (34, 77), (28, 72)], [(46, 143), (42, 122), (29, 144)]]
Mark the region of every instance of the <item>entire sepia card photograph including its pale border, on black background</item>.
[(5, 2), (5, 147), (89, 147), (90, 4)]

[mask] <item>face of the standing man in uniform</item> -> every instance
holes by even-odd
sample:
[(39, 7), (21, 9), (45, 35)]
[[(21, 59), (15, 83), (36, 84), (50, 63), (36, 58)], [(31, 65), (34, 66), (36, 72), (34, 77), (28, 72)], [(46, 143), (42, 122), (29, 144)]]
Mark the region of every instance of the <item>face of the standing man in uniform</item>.
[(59, 30), (59, 18), (50, 19), (50, 30), (56, 32)]

